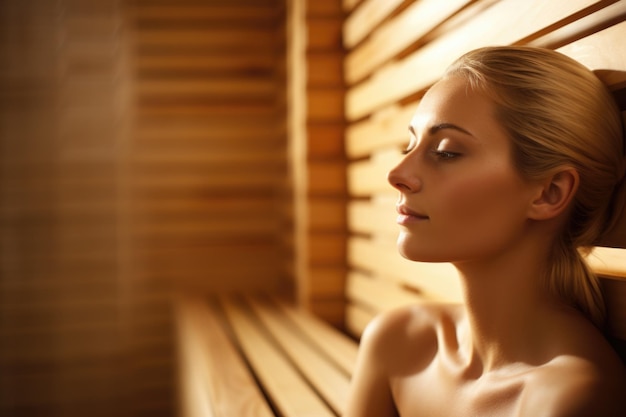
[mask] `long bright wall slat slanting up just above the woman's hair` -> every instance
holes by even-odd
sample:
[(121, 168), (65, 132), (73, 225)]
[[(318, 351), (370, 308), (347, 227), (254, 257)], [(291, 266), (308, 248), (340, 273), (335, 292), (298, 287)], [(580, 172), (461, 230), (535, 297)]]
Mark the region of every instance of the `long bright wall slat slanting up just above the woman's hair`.
[[(472, 49), (498, 44), (527, 42), (547, 28), (562, 26), (572, 16), (591, 13), (602, 5), (593, 0), (547, 3), (497, 2), (464, 25), (451, 30), (407, 58), (388, 64), (376, 76), (348, 91), (346, 118), (359, 119), (403, 97), (423, 91), (434, 83), (458, 56)], [(516, 18), (512, 18), (512, 14)]]

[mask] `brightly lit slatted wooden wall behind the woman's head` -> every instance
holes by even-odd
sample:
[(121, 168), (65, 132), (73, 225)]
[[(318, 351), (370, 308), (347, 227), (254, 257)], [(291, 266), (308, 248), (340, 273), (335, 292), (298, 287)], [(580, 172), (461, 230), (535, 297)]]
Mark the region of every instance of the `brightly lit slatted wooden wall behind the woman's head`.
[[(396, 192), (386, 173), (408, 142), (419, 98), (462, 53), (487, 45), (558, 49), (626, 87), (626, 2), (593, 0), (344, 0), (347, 83), (348, 263), (346, 323), (359, 335), (378, 311), (417, 299), (456, 301), (449, 264), (397, 254)], [(624, 216), (626, 217), (626, 215)], [(626, 236), (626, 228), (620, 229)], [(621, 239), (621, 240), (620, 240)], [(624, 247), (623, 237), (617, 239)], [(626, 275), (622, 252), (599, 248), (594, 268)]]

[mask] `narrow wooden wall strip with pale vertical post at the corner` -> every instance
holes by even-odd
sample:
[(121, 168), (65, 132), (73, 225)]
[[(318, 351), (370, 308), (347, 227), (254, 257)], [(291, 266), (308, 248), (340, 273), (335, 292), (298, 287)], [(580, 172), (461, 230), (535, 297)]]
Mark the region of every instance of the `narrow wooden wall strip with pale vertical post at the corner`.
[(346, 171), (340, 0), (289, 4), (289, 156), (298, 302), (342, 325)]

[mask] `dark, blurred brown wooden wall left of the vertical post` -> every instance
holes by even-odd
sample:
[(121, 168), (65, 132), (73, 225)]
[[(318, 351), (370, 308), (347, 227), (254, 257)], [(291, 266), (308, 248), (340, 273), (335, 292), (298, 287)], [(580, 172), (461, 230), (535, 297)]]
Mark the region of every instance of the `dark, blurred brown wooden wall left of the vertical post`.
[(0, 415), (173, 415), (172, 297), (294, 287), (284, 2), (0, 23)]

